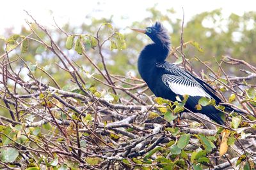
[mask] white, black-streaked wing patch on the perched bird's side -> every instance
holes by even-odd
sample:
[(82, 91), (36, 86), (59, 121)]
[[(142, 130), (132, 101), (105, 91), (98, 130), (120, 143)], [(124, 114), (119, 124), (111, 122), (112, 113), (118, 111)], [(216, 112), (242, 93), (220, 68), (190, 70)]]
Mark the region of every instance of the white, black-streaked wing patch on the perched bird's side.
[(188, 79), (184, 76), (175, 76), (172, 74), (163, 74), (162, 80), (166, 86), (168, 86), (175, 94), (181, 96), (187, 94), (189, 96), (202, 96), (209, 97), (211, 96), (205, 92), (197, 82)]

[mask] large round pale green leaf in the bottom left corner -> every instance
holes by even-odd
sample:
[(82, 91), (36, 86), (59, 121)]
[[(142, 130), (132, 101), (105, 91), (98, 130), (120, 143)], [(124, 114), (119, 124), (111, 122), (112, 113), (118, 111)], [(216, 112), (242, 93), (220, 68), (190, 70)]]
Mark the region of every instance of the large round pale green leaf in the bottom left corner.
[(15, 161), (19, 152), (15, 148), (1, 148), (1, 160), (6, 163)]

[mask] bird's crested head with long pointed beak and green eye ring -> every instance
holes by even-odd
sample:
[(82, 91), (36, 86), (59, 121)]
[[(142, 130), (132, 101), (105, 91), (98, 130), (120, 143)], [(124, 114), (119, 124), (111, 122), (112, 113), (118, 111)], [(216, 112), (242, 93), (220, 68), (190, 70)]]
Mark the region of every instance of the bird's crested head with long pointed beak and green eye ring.
[(145, 29), (131, 29), (133, 31), (147, 34), (147, 36), (149, 36), (152, 41), (159, 46), (163, 46), (164, 48), (169, 48), (170, 46), (170, 37), (168, 36), (168, 32), (160, 22), (156, 22), (151, 27), (147, 27)]

